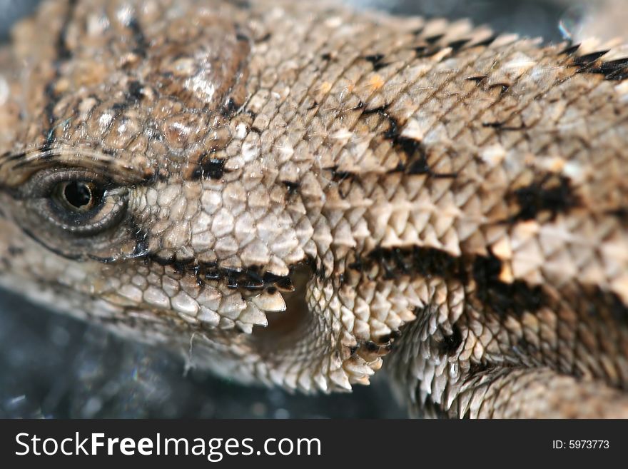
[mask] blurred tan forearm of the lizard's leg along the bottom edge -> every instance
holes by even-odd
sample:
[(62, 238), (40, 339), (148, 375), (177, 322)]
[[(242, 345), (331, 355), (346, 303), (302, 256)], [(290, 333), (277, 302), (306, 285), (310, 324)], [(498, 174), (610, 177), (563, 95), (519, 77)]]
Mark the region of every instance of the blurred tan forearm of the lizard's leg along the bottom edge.
[(628, 418), (628, 397), (596, 380), (550, 368), (473, 373), (448, 413), (458, 418)]

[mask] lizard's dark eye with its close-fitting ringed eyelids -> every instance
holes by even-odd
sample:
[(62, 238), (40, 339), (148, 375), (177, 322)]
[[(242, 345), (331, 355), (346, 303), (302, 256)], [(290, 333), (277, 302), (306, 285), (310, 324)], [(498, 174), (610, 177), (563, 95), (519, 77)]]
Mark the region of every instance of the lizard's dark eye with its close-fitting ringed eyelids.
[(37, 174), (26, 193), (41, 218), (75, 236), (102, 233), (116, 226), (126, 213), (126, 188), (81, 169)]

